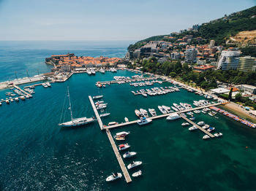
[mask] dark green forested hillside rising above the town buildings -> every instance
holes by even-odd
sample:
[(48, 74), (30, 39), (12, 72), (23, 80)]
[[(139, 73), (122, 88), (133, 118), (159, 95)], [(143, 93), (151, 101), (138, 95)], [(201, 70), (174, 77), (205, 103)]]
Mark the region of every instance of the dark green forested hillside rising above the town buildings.
[[(178, 38), (187, 34), (193, 34), (194, 37), (201, 36), (206, 40), (214, 39), (217, 45), (225, 44), (230, 36), (238, 34), (240, 31), (252, 31), (256, 29), (256, 6), (245, 9), (240, 12), (234, 12), (230, 15), (225, 15), (222, 18), (211, 20), (208, 23), (203, 23), (199, 26), (198, 31), (186, 31), (178, 34)], [(143, 46), (146, 42), (152, 40), (165, 40), (166, 35), (151, 36), (148, 39), (143, 39), (135, 44), (130, 44), (128, 50), (133, 51)], [(171, 40), (170, 40), (171, 41)]]

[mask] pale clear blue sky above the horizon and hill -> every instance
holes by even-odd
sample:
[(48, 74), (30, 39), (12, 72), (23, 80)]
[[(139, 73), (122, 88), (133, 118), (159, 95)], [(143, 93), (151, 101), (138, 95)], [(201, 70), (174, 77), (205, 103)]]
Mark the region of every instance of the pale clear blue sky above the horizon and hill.
[(255, 0), (0, 0), (0, 40), (139, 40), (255, 5)]

